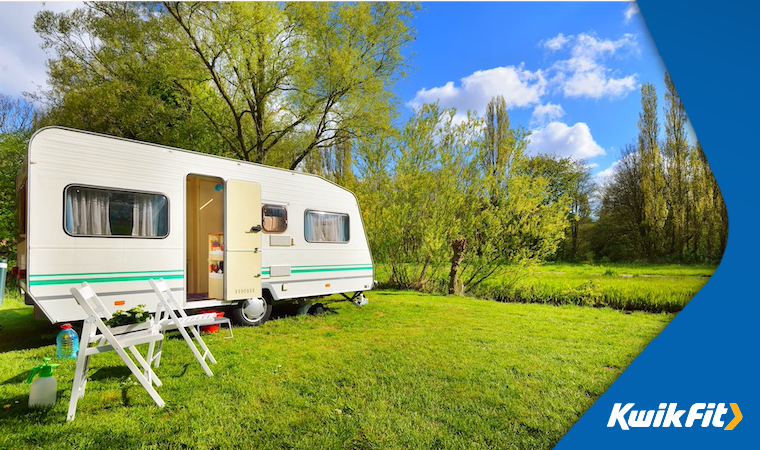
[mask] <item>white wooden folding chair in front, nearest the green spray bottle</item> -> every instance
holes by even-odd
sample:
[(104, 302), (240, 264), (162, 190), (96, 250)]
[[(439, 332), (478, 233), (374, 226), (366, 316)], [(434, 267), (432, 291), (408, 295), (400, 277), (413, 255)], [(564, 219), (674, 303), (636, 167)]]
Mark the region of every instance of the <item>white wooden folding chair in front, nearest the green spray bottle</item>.
[[(161, 342), (164, 335), (161, 334), (159, 327), (151, 320), (147, 323), (124, 325), (119, 327), (109, 327), (105, 324), (106, 320), (111, 318), (111, 313), (103, 305), (92, 288), (85, 282), (81, 287), (71, 288), (79, 306), (84, 309), (87, 319), (84, 321), (82, 337), (79, 343), (79, 354), (77, 355), (77, 366), (74, 373), (74, 386), (71, 389), (71, 401), (69, 401), (69, 413), (67, 420), (74, 420), (77, 410), (77, 402), (80, 397), (84, 397), (84, 390), (87, 386), (87, 371), (90, 368), (90, 357), (97, 353), (115, 351), (119, 354), (124, 363), (132, 371), (140, 384), (148, 391), (159, 407), (164, 407), (164, 400), (158, 395), (153, 388), (161, 386), (161, 380), (156, 376), (150, 365), (135, 348), (136, 345), (150, 343), (153, 346), (156, 342)], [(98, 334), (98, 331), (100, 334)], [(90, 347), (90, 344), (95, 343)], [(146, 377), (137, 367), (132, 358), (126, 352), (128, 348), (142, 369), (148, 374)], [(150, 359), (150, 354), (148, 359)]]

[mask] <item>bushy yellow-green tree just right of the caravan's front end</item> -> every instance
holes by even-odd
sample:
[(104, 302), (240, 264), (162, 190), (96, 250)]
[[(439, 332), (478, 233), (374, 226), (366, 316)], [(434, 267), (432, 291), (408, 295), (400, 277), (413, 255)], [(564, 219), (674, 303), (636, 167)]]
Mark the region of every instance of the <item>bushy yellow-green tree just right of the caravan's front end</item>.
[[(365, 141), (357, 160), (373, 255), (400, 287), (473, 289), (508, 264), (552, 255), (563, 236), (569, 198), (527, 169), (527, 132), (507, 126), (489, 148), (483, 120), (455, 114), (423, 105), (397, 137)], [(484, 165), (491, 150), (500, 156)]]

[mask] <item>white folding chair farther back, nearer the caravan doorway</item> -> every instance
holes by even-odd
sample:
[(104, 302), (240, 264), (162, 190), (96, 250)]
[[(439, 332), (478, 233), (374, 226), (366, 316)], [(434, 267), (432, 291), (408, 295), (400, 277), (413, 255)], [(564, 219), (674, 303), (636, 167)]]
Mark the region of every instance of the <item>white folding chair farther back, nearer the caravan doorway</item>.
[[(208, 363), (206, 363), (206, 359), (208, 358), (209, 361), (216, 364), (216, 358), (214, 358), (214, 355), (211, 353), (211, 350), (208, 349), (206, 343), (203, 342), (198, 327), (202, 325), (213, 324), (216, 321), (216, 314), (206, 313), (188, 316), (184, 308), (180, 306), (179, 302), (174, 297), (174, 294), (172, 294), (171, 289), (169, 289), (169, 286), (166, 284), (166, 281), (164, 281), (163, 278), (160, 278), (158, 281), (151, 278), (149, 281), (150, 285), (153, 287), (153, 290), (158, 296), (156, 323), (159, 326), (159, 330), (162, 332), (169, 330), (179, 330), (179, 332), (182, 334), (182, 337), (185, 339), (185, 342), (187, 342), (187, 345), (190, 347), (190, 350), (193, 351), (193, 354), (198, 359), (198, 362), (201, 363), (203, 370), (206, 371), (206, 375), (214, 375), (214, 373), (211, 371), (211, 368), (209, 368)], [(177, 313), (179, 313), (179, 315)], [(193, 343), (193, 340), (187, 333), (188, 329), (190, 329), (190, 332), (193, 333), (196, 342), (198, 345), (200, 345), (201, 349), (203, 349), (203, 354), (201, 354), (201, 352), (198, 350), (198, 347), (196, 347), (195, 343)], [(153, 353), (154, 346), (155, 343), (151, 343), (150, 350), (148, 350), (148, 354), (151, 355), (149, 363), (158, 367), (158, 365), (161, 363), (163, 342), (158, 343), (158, 351), (156, 351), (155, 354)]]

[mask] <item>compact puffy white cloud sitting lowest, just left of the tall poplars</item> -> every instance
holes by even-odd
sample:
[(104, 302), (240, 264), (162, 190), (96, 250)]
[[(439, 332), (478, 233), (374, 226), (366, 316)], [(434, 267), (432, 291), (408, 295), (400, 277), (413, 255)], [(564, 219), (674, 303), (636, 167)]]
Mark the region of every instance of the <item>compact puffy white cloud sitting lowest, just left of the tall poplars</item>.
[(591, 130), (584, 122), (568, 126), (562, 122), (551, 122), (531, 132), (528, 151), (552, 153), (575, 159), (593, 158), (605, 154), (604, 149), (596, 143)]

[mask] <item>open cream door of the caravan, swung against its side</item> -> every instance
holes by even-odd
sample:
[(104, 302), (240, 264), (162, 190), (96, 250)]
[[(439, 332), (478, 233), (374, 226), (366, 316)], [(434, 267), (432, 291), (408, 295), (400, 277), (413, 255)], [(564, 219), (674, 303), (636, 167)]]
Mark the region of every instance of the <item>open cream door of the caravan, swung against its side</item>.
[(224, 299), (261, 297), (261, 185), (227, 180), (224, 189)]

